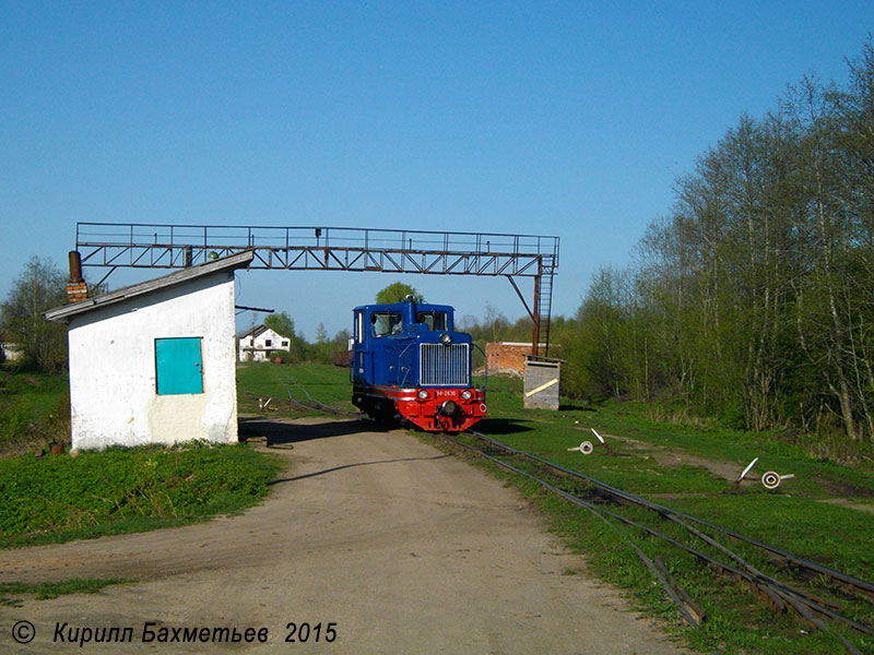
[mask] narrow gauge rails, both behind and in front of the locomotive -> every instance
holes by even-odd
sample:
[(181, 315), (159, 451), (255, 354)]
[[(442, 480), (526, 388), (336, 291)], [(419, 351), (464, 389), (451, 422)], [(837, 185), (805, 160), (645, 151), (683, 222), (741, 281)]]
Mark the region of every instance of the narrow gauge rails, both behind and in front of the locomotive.
[[(296, 406), (307, 410), (315, 409), (334, 416), (347, 416), (369, 420), (357, 413), (338, 409), (335, 407), (331, 407), (330, 405), (320, 403), (314, 400), (306, 389), (300, 386), (296, 381), (291, 380), (291, 382), (300, 389), (307, 396), (307, 401), (295, 398), (287, 384), (285, 384), (284, 381), (280, 381), (280, 383), (287, 391), (287, 404), (291, 406)], [(756, 567), (746, 561), (746, 559), (731, 550), (728, 546), (718, 541), (713, 536), (706, 534), (698, 527), (695, 527), (695, 525), (698, 525), (701, 528), (707, 528), (708, 531), (717, 533), (723, 537), (728, 537), (735, 541), (741, 541), (752, 546), (755, 549), (763, 551), (771, 562), (793, 570), (803, 577), (816, 579), (820, 583), (827, 582), (831, 587), (836, 587), (840, 592), (845, 594), (851, 594), (854, 597), (864, 598), (869, 602), (874, 600), (874, 583), (810, 561), (781, 548), (764, 544), (757, 539), (744, 536), (737, 532), (717, 525), (709, 521), (698, 519), (686, 512), (658, 504), (634, 493), (629, 493), (628, 491), (624, 491), (602, 483), (577, 471), (560, 466), (554, 462), (550, 462), (548, 460), (538, 455), (518, 450), (506, 443), (501, 443), (500, 441), (497, 441), (487, 434), (483, 434), (482, 432), (466, 430), (463, 433), (473, 438), (475, 442), (479, 442), (479, 446), (472, 443), (465, 443), (459, 440), (456, 436), (448, 433), (441, 433), (439, 437), (454, 446), (462, 449), (463, 451), (492, 462), (500, 468), (535, 481), (544, 489), (556, 493), (568, 502), (588, 510), (614, 529), (619, 529), (617, 525), (617, 523), (619, 523), (631, 528), (639, 529), (650, 537), (661, 539), (666, 544), (671, 544), (676, 548), (680, 548), (681, 550), (694, 556), (708, 567), (739, 580), (748, 588), (758, 594), (764, 600), (766, 600), (775, 611), (794, 612), (799, 619), (811, 630), (822, 630), (824, 632), (829, 631), (826, 620), (830, 620), (835, 621), (836, 623), (847, 626), (862, 634), (874, 636), (874, 628), (841, 615), (838, 611), (840, 609), (839, 605), (834, 600), (813, 594), (805, 590), (800, 590), (790, 583), (777, 580), (776, 577), (759, 571)], [(543, 477), (535, 475), (530, 471), (525, 471), (519, 466), (508, 463), (505, 461), (506, 458), (511, 458), (517, 463), (524, 463), (534, 468), (539, 468), (540, 471), (544, 472), (544, 475)], [(546, 477), (551, 479), (546, 479)], [(589, 498), (583, 498), (580, 496), (578, 490), (579, 483), (583, 483), (587, 486), (587, 491), (589, 491), (587, 496)], [(570, 489), (567, 487), (570, 487)], [(602, 502), (599, 503), (591, 500), (591, 496), (595, 496)], [(645, 525), (639, 521), (635, 521), (624, 516), (618, 512), (612, 511), (604, 507), (603, 501), (621, 505), (642, 508), (651, 511), (661, 520), (666, 520), (681, 526), (693, 537), (704, 541), (712, 549), (721, 552), (723, 556), (730, 559), (732, 563), (722, 561), (712, 555), (704, 552), (699, 548), (695, 548), (677, 538), (665, 535), (649, 525)], [(669, 597), (674, 603), (683, 618), (692, 626), (700, 628), (701, 622), (707, 619), (705, 612), (677, 584), (664, 563), (658, 557), (648, 557), (646, 552), (643, 552), (643, 550), (635, 543), (630, 534), (625, 533), (624, 537), (628, 545), (637, 553), (640, 561), (652, 572), (656, 579), (664, 587)], [(847, 640), (847, 638), (845, 638), (841, 633), (834, 632), (834, 634), (840, 640), (848, 652), (852, 653), (853, 655), (862, 655), (861, 651), (859, 651), (859, 648), (855, 647), (855, 645)]]

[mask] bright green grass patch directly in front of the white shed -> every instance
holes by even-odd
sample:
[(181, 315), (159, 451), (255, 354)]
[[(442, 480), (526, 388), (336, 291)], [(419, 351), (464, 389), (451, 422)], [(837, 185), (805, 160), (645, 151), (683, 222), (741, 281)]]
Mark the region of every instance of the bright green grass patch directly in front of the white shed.
[(244, 444), (0, 460), (0, 547), (141, 532), (239, 512), (281, 464)]

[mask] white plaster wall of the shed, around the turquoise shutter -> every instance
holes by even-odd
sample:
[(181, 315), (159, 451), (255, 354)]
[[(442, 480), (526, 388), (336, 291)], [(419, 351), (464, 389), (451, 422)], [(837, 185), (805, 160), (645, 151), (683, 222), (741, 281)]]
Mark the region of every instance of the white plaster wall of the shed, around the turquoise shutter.
[[(234, 275), (212, 275), (73, 317), (74, 449), (237, 441)], [(155, 338), (203, 337), (203, 393), (155, 393)]]

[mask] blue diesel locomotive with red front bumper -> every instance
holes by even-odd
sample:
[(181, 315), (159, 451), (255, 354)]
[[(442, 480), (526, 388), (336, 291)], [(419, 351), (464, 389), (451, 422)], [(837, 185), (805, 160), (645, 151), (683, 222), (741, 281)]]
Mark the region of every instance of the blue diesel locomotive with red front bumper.
[(473, 343), (448, 305), (365, 305), (353, 310), (352, 403), (377, 420), (428, 431), (466, 430), (486, 415), (471, 380)]

